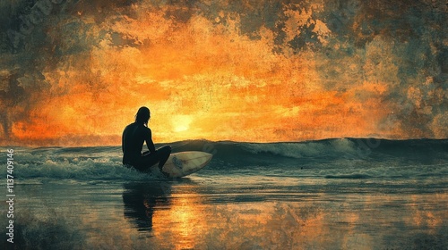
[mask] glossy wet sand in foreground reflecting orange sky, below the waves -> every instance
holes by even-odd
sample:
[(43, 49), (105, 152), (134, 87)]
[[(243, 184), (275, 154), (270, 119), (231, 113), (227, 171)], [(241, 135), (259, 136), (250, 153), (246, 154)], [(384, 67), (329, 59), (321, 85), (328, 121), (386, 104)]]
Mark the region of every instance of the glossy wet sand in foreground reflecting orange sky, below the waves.
[[(448, 249), (448, 188), (444, 180), (440, 185), (426, 181), (415, 180), (414, 188), (390, 180), (265, 176), (121, 182), (33, 179), (16, 185), (14, 245)], [(2, 222), (4, 228), (6, 220)]]

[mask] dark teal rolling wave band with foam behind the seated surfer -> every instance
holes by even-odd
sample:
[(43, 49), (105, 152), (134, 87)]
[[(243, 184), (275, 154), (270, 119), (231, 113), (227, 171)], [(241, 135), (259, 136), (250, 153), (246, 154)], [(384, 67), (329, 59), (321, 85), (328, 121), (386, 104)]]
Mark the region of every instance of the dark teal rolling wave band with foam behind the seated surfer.
[[(173, 152), (213, 154), (206, 167), (206, 174), (211, 175), (326, 179), (448, 176), (448, 140), (340, 138), (286, 143), (189, 140), (169, 145)], [(14, 175), (18, 179), (155, 178), (123, 167), (121, 157), (121, 146), (16, 148)]]

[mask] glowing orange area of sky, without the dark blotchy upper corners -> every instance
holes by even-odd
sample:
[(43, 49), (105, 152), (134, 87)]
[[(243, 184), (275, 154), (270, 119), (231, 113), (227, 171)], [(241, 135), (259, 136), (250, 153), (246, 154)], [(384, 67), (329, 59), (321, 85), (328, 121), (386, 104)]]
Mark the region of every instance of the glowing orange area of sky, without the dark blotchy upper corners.
[[(151, 109), (156, 143), (446, 137), (444, 110), (430, 121), (418, 115), (435, 110), (421, 103), (425, 84), (435, 86), (430, 95), (437, 105), (444, 103), (444, 88), (421, 73), (417, 79), (425, 82), (400, 89), (404, 102), (391, 102), (402, 80), (396, 45), (381, 34), (365, 46), (341, 43), (328, 21), (315, 17), (325, 9), (316, 3), (302, 9), (283, 4), (280, 31), (263, 20), (251, 32), (242, 21), (248, 7), (232, 12), (220, 6), (205, 14), (198, 6), (168, 4), (71, 6), (69, 17), (50, 15), (43, 22), (43, 59), (32, 62), (44, 63), (36, 66), (41, 82), (34, 71), (20, 70), (16, 82), (27, 101), (8, 106), (3, 137), (20, 144), (119, 145), (142, 105)], [(191, 16), (168, 16), (173, 12)], [(291, 46), (305, 28), (312, 29), (313, 42)], [(7, 55), (4, 65), (13, 66), (1, 71), (2, 89), (11, 91), (5, 79), (22, 67), (14, 63), (22, 58)], [(403, 125), (402, 113), (395, 114), (403, 103), (430, 133)]]

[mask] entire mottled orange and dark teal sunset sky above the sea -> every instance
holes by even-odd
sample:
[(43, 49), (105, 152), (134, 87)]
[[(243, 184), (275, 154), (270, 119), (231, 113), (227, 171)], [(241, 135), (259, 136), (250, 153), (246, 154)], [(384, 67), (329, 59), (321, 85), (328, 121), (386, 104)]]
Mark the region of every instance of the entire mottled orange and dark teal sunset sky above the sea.
[[(33, 3), (30, 3), (33, 2)], [(448, 136), (445, 1), (0, 3), (1, 144)]]

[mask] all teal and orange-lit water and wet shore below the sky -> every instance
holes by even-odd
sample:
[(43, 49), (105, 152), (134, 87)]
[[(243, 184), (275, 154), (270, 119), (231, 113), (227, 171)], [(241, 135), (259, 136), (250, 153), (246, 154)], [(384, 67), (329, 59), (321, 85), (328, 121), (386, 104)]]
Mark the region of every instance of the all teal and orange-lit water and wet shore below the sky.
[(448, 140), (168, 145), (213, 158), (162, 179), (123, 167), (121, 146), (2, 147), (4, 166), (14, 150), (2, 246), (448, 249)]

